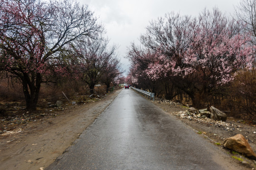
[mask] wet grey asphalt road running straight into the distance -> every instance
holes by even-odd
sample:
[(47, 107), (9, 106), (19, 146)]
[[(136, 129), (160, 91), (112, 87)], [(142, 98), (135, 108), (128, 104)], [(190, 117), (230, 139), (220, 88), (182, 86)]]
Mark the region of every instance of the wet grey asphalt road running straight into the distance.
[(216, 146), (132, 89), (46, 170), (223, 170)]

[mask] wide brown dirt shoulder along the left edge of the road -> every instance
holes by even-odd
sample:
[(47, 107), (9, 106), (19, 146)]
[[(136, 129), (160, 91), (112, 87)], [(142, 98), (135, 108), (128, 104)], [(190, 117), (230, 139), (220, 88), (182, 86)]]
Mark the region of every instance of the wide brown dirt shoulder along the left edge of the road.
[(44, 170), (120, 92), (121, 89), (98, 102), (74, 105), (53, 117), (29, 122), (24, 129), (0, 134), (0, 170)]

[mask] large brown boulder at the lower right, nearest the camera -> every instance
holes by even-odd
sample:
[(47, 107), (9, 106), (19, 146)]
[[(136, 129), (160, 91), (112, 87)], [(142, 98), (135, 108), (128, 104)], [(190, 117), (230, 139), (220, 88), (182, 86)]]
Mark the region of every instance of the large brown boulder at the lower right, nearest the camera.
[(248, 158), (256, 160), (256, 154), (253, 152), (245, 137), (241, 134), (225, 139), (223, 146), (232, 151), (244, 154)]

